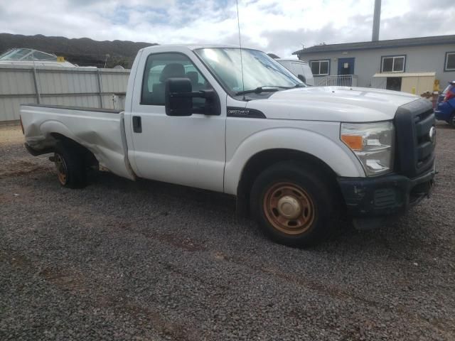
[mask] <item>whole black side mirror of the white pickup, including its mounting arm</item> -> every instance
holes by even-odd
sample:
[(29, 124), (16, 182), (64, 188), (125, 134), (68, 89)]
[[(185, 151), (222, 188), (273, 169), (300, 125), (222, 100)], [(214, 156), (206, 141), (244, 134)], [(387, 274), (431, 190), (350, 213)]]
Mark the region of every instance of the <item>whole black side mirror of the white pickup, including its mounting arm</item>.
[[(164, 103), (168, 116), (191, 116), (192, 114), (220, 115), (220, 97), (215, 90), (192, 92), (189, 78), (168, 78), (164, 90)], [(193, 98), (204, 98), (200, 106), (193, 106)]]

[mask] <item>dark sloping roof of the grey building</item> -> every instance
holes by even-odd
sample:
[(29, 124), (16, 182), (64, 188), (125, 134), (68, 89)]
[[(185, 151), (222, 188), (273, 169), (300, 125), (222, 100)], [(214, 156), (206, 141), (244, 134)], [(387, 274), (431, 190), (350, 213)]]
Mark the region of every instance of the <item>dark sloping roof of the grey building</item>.
[(374, 48), (403, 48), (403, 47), (409, 47), (409, 46), (443, 45), (443, 44), (455, 44), (455, 35), (392, 39), (392, 40), (378, 40), (378, 41), (362, 41), (359, 43), (343, 43), (343, 44), (327, 44), (327, 45), (322, 44), (322, 45), (311, 46), (311, 48), (304, 48), (302, 50), (295, 51), (292, 54), (293, 55), (305, 55), (306, 53), (367, 50), (367, 49), (374, 49)]

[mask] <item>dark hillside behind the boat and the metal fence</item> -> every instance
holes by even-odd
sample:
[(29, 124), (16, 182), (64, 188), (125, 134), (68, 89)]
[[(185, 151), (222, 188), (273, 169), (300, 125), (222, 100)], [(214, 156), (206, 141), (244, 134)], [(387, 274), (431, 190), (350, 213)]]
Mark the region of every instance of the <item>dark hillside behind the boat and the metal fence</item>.
[(122, 65), (131, 67), (137, 51), (155, 43), (134, 43), (132, 41), (97, 41), (90, 38), (22, 36), (0, 33), (0, 53), (10, 48), (34, 48), (47, 53), (65, 57), (70, 63), (80, 66), (104, 67), (106, 55), (107, 67)]

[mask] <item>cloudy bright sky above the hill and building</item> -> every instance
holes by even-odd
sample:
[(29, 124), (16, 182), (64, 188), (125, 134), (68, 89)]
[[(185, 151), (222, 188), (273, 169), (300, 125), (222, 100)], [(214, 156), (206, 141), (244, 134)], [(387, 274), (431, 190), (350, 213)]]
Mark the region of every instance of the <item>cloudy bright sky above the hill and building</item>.
[[(239, 0), (242, 45), (282, 58), (371, 40), (375, 0)], [(382, 0), (380, 40), (455, 34), (454, 0)], [(0, 32), (238, 45), (235, 0), (0, 0)]]

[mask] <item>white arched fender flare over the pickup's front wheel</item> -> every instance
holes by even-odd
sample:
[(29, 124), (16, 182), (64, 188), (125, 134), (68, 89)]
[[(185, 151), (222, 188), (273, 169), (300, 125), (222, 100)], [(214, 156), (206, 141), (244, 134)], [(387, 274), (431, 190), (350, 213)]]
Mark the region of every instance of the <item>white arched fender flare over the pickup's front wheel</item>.
[(225, 193), (236, 195), (242, 171), (250, 158), (271, 149), (308, 153), (326, 163), (339, 176), (365, 177), (360, 162), (341, 141), (336, 144), (327, 136), (306, 129), (274, 128), (258, 131), (237, 146), (232, 157), (226, 162)]

